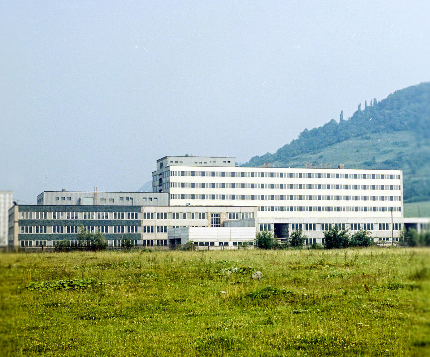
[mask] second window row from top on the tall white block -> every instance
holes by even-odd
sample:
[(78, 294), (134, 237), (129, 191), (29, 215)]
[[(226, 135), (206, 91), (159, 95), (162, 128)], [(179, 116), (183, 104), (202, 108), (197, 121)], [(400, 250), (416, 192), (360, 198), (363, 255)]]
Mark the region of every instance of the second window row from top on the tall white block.
[[(169, 185), (165, 187), (169, 188)], [(263, 188), (290, 190), (400, 190), (400, 185), (256, 184), (229, 182), (170, 182), (170, 188)]]

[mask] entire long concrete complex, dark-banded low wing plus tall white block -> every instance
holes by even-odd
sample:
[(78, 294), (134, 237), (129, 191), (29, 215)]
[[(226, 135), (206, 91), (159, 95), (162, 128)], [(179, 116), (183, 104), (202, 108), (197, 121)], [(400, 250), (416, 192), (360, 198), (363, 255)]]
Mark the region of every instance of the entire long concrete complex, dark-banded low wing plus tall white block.
[[(302, 229), (311, 244), (324, 243), (323, 232), (337, 225), (396, 241), (404, 225), (399, 170), (239, 167), (234, 157), (166, 156), (152, 177), (151, 193), (45, 191), (37, 205), (15, 205), (9, 247), (77, 243), (80, 224), (111, 246), (124, 236), (141, 246), (175, 245), (168, 232), (183, 227), (254, 227), (282, 241)], [(195, 243), (209, 244), (203, 240)]]

